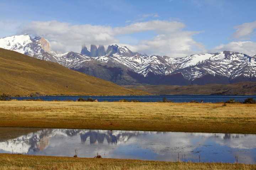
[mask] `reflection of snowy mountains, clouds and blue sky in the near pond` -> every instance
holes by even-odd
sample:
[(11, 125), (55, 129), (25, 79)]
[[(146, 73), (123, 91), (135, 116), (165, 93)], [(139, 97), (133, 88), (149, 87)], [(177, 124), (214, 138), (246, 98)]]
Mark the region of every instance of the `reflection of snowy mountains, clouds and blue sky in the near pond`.
[[(12, 128), (9, 128), (12, 132)], [(256, 163), (256, 135), (43, 129), (0, 142), (0, 153)]]

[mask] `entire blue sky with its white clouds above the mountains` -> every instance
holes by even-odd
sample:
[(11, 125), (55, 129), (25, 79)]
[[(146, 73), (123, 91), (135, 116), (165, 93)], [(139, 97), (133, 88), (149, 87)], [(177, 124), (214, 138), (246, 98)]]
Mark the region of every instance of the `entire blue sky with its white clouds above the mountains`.
[(46, 38), (54, 51), (124, 45), (148, 55), (256, 54), (255, 0), (1, 0), (0, 37)]

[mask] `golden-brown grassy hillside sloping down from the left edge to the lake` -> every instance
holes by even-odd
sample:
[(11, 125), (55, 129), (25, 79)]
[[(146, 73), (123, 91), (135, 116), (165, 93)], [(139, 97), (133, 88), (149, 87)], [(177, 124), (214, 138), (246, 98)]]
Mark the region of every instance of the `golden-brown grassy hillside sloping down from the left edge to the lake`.
[(75, 72), (57, 63), (0, 48), (0, 94), (144, 95), (114, 83)]

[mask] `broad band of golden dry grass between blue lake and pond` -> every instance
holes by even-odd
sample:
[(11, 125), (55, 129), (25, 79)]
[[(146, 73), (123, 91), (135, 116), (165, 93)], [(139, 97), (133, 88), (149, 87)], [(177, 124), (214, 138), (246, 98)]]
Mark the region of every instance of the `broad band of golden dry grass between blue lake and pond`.
[(256, 105), (3, 101), (0, 126), (256, 133)]

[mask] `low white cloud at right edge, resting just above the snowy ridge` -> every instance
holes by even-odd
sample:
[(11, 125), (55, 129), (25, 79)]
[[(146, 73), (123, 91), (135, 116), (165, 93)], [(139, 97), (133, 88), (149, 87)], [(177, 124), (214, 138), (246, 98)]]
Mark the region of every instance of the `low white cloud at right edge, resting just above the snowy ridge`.
[(228, 44), (222, 44), (215, 47), (212, 52), (218, 51), (238, 51), (245, 53), (247, 55), (255, 55), (256, 54), (256, 42), (252, 41), (236, 41), (229, 42)]

